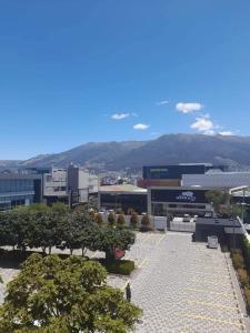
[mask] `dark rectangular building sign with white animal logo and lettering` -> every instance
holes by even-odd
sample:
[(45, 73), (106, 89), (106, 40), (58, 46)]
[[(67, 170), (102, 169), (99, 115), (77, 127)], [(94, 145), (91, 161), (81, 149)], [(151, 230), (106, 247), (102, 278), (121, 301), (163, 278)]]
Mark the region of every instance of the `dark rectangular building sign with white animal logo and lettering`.
[(204, 190), (167, 190), (167, 189), (152, 189), (152, 202), (172, 202), (172, 203), (208, 203)]

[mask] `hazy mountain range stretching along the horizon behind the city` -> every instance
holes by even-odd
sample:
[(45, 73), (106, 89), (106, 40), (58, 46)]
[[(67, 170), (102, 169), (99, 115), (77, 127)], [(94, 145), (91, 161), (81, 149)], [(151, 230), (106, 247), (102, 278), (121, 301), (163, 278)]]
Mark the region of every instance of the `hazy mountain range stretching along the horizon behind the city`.
[(38, 155), (26, 161), (0, 161), (0, 168), (67, 167), (89, 169), (140, 169), (176, 163), (250, 165), (250, 137), (166, 134), (149, 141), (89, 142), (71, 150)]

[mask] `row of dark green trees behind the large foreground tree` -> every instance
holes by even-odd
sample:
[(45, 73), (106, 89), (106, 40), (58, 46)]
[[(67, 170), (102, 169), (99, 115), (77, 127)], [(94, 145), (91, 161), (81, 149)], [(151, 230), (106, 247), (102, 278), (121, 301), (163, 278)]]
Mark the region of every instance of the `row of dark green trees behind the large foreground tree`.
[[(121, 221), (123, 222), (123, 221)], [(121, 226), (122, 223), (121, 223)], [(81, 249), (104, 251), (113, 259), (117, 248), (128, 250), (136, 235), (127, 229), (100, 223), (86, 211), (70, 211), (63, 205), (52, 208), (30, 206), (0, 213), (0, 246), (11, 245), (21, 250), (53, 246), (61, 250)]]

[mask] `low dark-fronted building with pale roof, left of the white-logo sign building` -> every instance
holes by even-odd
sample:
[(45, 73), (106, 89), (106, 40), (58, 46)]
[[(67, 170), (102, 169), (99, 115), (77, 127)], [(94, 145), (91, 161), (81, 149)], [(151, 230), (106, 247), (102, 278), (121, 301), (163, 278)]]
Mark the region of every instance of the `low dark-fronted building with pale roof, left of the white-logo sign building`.
[(141, 214), (147, 212), (147, 190), (130, 184), (100, 186), (98, 192), (99, 210), (113, 210)]

